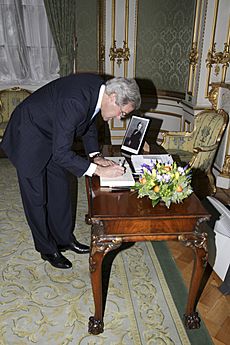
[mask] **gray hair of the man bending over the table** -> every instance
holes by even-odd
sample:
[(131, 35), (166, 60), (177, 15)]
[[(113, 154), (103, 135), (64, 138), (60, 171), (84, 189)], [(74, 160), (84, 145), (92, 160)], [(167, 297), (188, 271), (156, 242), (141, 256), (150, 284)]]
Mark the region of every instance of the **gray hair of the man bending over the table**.
[(122, 77), (110, 79), (105, 83), (105, 92), (107, 95), (115, 93), (116, 104), (119, 106), (131, 103), (135, 109), (140, 108), (140, 90), (134, 79)]

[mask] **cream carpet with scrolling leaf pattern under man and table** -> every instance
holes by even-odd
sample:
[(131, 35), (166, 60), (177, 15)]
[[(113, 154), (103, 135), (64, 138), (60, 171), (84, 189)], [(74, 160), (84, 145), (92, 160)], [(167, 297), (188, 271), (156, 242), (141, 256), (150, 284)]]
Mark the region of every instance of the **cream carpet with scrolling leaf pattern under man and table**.
[[(1, 345), (211, 344), (188, 337), (156, 255), (160, 249), (144, 242), (116, 256), (105, 331), (88, 334), (88, 318), (94, 313), (88, 256), (68, 252), (73, 268), (63, 271), (44, 262), (33, 247), (15, 170), (0, 159), (0, 171)], [(78, 183), (78, 196), (75, 234), (89, 243), (84, 179)]]

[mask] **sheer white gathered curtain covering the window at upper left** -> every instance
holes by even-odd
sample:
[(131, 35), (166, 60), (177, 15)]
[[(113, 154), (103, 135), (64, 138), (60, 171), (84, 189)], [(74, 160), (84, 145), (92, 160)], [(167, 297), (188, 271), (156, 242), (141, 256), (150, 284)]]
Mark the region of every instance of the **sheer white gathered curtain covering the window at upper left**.
[(1, 85), (58, 78), (59, 62), (41, 0), (0, 0)]

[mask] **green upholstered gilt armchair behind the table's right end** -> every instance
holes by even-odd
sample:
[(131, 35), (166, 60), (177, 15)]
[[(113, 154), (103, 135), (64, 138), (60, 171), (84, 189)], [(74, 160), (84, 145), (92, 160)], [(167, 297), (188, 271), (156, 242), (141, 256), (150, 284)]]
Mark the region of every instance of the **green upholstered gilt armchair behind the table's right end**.
[(228, 122), (228, 114), (220, 110), (204, 110), (194, 118), (192, 132), (163, 132), (163, 148), (194, 171), (202, 171), (209, 178), (215, 192), (212, 164)]

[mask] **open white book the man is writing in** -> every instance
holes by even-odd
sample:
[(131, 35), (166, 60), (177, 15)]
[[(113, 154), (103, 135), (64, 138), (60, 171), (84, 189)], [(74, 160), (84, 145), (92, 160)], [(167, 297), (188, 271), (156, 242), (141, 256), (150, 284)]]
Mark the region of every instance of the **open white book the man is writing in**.
[(131, 187), (134, 186), (135, 180), (132, 175), (132, 171), (126, 159), (124, 157), (106, 157), (106, 159), (113, 160), (115, 163), (122, 165), (126, 168), (124, 175), (119, 177), (100, 177), (101, 187)]

